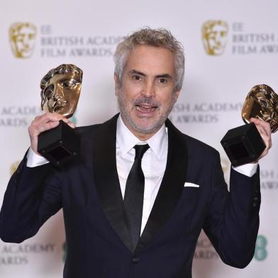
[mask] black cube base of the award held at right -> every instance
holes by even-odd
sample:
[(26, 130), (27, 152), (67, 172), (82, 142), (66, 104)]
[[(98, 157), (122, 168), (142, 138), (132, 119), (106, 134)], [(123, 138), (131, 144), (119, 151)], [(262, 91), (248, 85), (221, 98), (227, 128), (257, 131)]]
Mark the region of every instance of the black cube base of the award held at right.
[(228, 130), (221, 144), (233, 166), (255, 162), (266, 147), (254, 123)]

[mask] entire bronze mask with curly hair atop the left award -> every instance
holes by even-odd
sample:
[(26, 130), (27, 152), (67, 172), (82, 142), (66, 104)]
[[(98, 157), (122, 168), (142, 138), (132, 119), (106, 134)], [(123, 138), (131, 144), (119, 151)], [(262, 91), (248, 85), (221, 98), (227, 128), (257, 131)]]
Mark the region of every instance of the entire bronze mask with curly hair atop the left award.
[(70, 118), (77, 108), (81, 84), (82, 70), (74, 65), (50, 70), (40, 82), (41, 109)]

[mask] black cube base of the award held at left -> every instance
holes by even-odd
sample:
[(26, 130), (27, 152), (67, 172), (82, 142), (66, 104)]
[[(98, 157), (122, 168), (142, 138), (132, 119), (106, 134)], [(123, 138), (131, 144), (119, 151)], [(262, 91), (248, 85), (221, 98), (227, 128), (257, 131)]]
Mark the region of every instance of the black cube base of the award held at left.
[(80, 140), (74, 128), (64, 121), (59, 126), (46, 130), (38, 135), (38, 152), (49, 160), (52, 165), (62, 165), (77, 157)]

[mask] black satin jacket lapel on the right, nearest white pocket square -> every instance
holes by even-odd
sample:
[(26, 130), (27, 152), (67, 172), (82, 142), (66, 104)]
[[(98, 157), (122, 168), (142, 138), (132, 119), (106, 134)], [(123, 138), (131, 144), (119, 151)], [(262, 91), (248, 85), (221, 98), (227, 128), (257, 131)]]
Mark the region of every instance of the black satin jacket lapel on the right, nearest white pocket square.
[(142, 250), (165, 226), (179, 201), (187, 179), (187, 143), (182, 133), (169, 120), (166, 121), (166, 126), (168, 128), (168, 154), (165, 174), (135, 252)]

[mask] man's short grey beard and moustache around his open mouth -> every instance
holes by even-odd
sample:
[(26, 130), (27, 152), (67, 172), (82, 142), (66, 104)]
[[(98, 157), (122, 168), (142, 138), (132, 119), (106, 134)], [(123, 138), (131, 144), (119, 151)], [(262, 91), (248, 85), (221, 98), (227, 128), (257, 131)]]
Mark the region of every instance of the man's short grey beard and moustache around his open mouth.
[(152, 98), (141, 97), (139, 99), (135, 99), (132, 102), (132, 109), (136, 109), (136, 106), (140, 104), (150, 104), (151, 106), (156, 107), (155, 109), (157, 109), (158, 117), (149, 120), (147, 124), (143, 124), (133, 119), (131, 111), (127, 110), (126, 101), (123, 98), (122, 92), (120, 91), (118, 94), (118, 106), (121, 111), (121, 116), (126, 121), (126, 123), (128, 123), (128, 125), (133, 128), (133, 130), (143, 134), (155, 133), (158, 130), (160, 130), (162, 125), (165, 123), (167, 117), (169, 116), (169, 113), (172, 111), (175, 102), (176, 98), (173, 93), (171, 101), (168, 104), (167, 108), (165, 109), (165, 111), (162, 111), (162, 104), (160, 104), (160, 102), (158, 101), (154, 101)]

